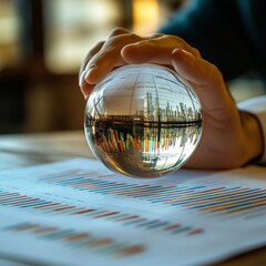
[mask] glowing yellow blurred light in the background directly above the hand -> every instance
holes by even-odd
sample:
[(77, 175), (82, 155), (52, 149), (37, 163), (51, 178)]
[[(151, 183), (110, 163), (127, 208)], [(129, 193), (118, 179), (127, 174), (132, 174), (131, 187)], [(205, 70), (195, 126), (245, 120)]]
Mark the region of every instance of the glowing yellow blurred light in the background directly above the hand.
[(157, 0), (133, 0), (133, 31), (146, 35), (158, 27)]

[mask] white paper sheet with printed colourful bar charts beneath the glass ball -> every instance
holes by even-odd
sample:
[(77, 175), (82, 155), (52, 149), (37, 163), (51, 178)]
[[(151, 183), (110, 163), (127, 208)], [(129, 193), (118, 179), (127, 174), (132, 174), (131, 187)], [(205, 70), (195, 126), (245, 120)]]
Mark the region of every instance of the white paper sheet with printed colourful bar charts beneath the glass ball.
[(0, 173), (0, 257), (205, 265), (264, 245), (264, 167), (135, 180), (76, 158)]

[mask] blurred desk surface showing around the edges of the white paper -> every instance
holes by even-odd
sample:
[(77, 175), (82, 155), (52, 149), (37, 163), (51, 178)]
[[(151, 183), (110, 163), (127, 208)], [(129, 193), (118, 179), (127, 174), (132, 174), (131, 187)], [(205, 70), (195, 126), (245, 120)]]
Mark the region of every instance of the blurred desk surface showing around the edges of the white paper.
[[(73, 157), (94, 157), (82, 131), (0, 136), (0, 171)], [(21, 266), (23, 264), (0, 258), (0, 265)], [(242, 254), (217, 265), (266, 265), (266, 247)]]

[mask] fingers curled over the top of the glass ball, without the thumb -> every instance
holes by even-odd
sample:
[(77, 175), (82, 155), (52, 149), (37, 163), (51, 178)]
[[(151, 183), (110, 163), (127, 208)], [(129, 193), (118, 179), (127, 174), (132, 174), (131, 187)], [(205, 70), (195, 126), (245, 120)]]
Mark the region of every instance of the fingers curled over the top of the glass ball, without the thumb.
[(201, 58), (196, 49), (178, 37), (156, 33), (142, 38), (126, 29), (116, 28), (105, 42), (98, 43), (82, 61), (79, 79), (81, 91), (86, 98), (108, 73), (126, 63), (152, 62), (172, 66), (172, 51), (175, 48)]

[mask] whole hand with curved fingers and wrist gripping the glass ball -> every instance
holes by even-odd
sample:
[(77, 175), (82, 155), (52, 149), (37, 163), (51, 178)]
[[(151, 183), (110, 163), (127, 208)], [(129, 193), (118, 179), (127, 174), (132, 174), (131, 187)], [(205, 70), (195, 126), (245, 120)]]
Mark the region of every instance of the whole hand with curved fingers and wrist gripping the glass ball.
[(81, 90), (88, 98), (112, 69), (144, 62), (174, 69), (191, 83), (201, 100), (203, 134), (186, 167), (233, 168), (263, 153), (258, 121), (237, 110), (217, 68), (181, 38), (163, 34), (142, 38), (123, 29), (114, 30), (83, 61)]

